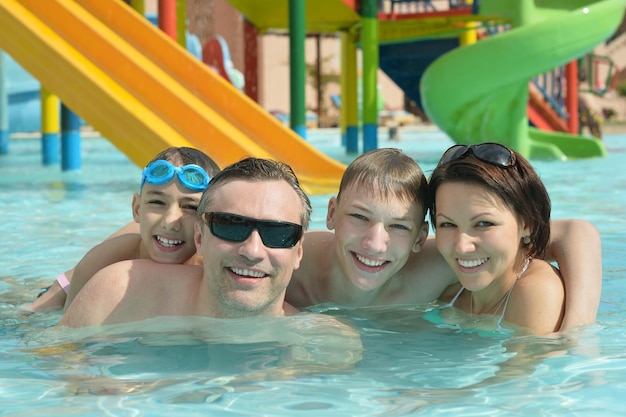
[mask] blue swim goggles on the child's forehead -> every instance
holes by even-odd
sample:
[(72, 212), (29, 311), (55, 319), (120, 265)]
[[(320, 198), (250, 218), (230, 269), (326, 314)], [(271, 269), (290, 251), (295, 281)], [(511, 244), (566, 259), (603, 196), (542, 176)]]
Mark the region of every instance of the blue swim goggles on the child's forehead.
[(150, 162), (144, 168), (141, 173), (139, 191), (141, 192), (145, 183), (153, 185), (166, 184), (174, 178), (175, 174), (178, 176), (178, 181), (191, 191), (204, 191), (211, 180), (206, 171), (198, 165), (189, 164), (184, 167), (177, 167), (168, 161), (159, 159), (158, 161)]

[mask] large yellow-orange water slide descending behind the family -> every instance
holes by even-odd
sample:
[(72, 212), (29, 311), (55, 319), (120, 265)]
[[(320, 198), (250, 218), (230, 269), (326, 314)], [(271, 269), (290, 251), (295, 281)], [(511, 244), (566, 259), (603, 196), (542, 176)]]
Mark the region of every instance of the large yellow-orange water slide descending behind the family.
[(2, 0), (0, 48), (139, 166), (192, 146), (220, 166), (290, 164), (310, 194), (345, 166), (319, 152), (119, 0)]

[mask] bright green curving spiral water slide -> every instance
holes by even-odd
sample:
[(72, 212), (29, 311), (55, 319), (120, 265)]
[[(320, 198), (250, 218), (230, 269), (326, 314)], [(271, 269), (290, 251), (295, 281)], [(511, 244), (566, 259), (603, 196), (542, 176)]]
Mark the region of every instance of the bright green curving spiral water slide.
[(535, 159), (606, 156), (597, 139), (528, 126), (531, 78), (589, 52), (611, 36), (626, 0), (481, 0), (481, 15), (514, 29), (456, 48), (421, 80), (424, 110), (457, 143), (499, 142)]

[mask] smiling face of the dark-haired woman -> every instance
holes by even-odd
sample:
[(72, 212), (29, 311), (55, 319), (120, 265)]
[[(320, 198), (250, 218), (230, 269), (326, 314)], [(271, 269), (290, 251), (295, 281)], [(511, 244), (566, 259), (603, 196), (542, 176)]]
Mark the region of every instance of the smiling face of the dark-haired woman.
[(517, 277), (529, 233), (509, 207), (486, 188), (446, 182), (436, 199), (437, 248), (472, 292), (501, 292)]

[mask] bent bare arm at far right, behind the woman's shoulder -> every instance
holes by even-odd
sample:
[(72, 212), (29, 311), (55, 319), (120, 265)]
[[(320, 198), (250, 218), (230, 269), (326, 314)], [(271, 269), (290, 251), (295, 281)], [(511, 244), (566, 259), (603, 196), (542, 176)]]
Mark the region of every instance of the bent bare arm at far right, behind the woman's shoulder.
[(565, 282), (565, 317), (560, 330), (596, 321), (602, 292), (602, 246), (596, 227), (584, 220), (554, 220), (547, 260), (555, 260)]

